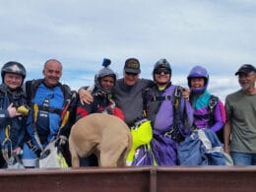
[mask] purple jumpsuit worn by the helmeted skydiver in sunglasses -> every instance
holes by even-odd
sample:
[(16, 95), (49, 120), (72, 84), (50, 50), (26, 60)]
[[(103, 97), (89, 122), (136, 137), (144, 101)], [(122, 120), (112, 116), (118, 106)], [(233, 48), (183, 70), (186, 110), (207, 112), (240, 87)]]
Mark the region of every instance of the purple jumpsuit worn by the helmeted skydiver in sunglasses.
[[(176, 86), (170, 86), (164, 91), (152, 92), (153, 96), (156, 92), (160, 96), (173, 96)], [(158, 96), (157, 94), (157, 96)], [(155, 95), (156, 96), (156, 95)], [(153, 105), (149, 104), (149, 109)], [(181, 135), (187, 136), (190, 134), (192, 123), (193, 123), (193, 109), (189, 101), (182, 96), (180, 97), (180, 102), (178, 105), (179, 120), (176, 122), (178, 127), (177, 134), (172, 134), (172, 139), (170, 137), (165, 137), (164, 134), (169, 132), (173, 127), (174, 114), (173, 114), (172, 99), (162, 100), (160, 103), (160, 108), (156, 115), (154, 124), (154, 135), (151, 142), (152, 151), (154, 158), (158, 165), (176, 165), (177, 164), (177, 143), (173, 140), (173, 135), (177, 136), (178, 142)], [(176, 129), (175, 129), (176, 130)], [(173, 132), (174, 133), (174, 132)]]

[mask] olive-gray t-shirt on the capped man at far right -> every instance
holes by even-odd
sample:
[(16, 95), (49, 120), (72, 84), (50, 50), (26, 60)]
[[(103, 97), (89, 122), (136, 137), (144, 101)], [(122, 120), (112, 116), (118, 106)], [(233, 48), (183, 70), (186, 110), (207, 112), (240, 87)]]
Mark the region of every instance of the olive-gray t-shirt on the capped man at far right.
[(256, 95), (242, 91), (225, 98), (226, 120), (231, 123), (230, 151), (256, 153)]

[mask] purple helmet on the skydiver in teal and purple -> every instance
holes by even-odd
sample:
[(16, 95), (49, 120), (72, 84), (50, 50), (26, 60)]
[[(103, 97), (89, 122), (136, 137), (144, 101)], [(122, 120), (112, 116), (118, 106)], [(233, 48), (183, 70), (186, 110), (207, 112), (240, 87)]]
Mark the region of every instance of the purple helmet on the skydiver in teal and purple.
[[(204, 78), (205, 80), (205, 86), (201, 89), (193, 89), (191, 88), (191, 78)], [(199, 65), (193, 67), (191, 71), (188, 74), (187, 77), (188, 87), (190, 88), (191, 92), (194, 94), (201, 94), (205, 92), (205, 90), (208, 87), (209, 84), (209, 74), (207, 70), (204, 67), (201, 67)]]

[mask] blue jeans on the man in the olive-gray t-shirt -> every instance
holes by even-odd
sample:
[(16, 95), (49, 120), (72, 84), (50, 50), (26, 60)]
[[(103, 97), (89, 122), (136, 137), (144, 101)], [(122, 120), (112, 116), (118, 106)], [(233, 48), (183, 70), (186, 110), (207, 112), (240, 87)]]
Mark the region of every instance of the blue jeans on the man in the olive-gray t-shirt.
[(233, 165), (256, 165), (256, 154), (230, 153)]

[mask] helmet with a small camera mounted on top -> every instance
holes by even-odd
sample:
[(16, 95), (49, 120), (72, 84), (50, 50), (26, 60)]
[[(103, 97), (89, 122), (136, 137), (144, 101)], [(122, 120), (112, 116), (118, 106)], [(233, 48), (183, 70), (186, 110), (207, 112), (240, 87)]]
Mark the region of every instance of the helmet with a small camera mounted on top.
[(102, 91), (105, 94), (112, 94), (112, 90), (109, 91), (109, 90), (103, 89), (100, 84), (101, 79), (106, 76), (111, 76), (114, 79), (114, 84), (116, 81), (116, 74), (114, 73), (114, 71), (112, 69), (110, 69), (108, 67), (108, 65), (110, 65), (110, 63), (111, 63), (110, 59), (103, 59), (103, 62), (102, 62), (103, 68), (97, 72), (96, 77), (95, 77), (95, 84), (96, 84), (97, 90)]

